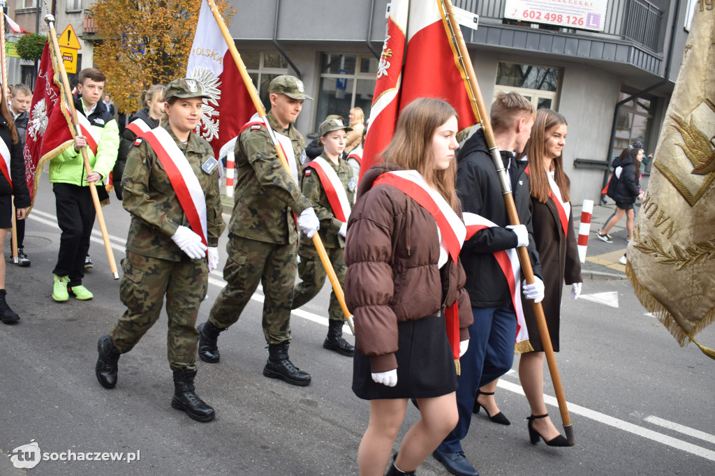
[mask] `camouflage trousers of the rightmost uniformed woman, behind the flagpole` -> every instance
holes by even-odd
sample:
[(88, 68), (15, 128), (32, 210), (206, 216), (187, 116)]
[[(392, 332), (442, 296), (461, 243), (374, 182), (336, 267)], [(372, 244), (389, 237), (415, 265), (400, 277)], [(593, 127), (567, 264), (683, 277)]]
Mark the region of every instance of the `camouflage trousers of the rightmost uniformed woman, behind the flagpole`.
[[(332, 269), (335, 270), (337, 280), (340, 282), (340, 287), (345, 289), (345, 266), (344, 249), (342, 248), (325, 248), (327, 257), (332, 263)], [(310, 299), (314, 298), (323, 284), (325, 284), (325, 267), (320, 262), (320, 257), (317, 256), (317, 251), (314, 247), (305, 247), (302, 245), (299, 249), (300, 263), (298, 263), (298, 276), (302, 282), (299, 282), (293, 288), (293, 309), (301, 307)], [(332, 285), (331, 285), (332, 287)], [(330, 292), (330, 304), (327, 307), (328, 319), (335, 321), (345, 321), (345, 314), (342, 312), (340, 302), (335, 297), (335, 291)]]

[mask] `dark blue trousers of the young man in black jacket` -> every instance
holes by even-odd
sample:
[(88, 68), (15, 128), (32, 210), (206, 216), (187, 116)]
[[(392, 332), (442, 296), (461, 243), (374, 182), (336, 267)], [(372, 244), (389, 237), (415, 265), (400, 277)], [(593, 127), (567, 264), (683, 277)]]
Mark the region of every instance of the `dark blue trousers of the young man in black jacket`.
[(440, 445), (440, 450), (458, 452), (467, 436), (479, 387), (506, 374), (514, 362), (516, 314), (512, 306), (473, 307), (474, 323), (469, 327), (469, 347), (460, 358), (457, 377), (457, 426)]

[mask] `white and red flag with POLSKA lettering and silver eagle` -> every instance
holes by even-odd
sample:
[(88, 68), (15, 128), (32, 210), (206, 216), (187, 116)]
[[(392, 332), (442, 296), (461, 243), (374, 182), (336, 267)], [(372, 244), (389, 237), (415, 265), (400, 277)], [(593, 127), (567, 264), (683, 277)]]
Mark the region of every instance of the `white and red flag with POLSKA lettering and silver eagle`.
[(211, 144), (215, 157), (225, 157), (256, 109), (206, 0), (201, 3), (186, 76), (199, 81), (210, 96), (204, 99), (197, 134)]

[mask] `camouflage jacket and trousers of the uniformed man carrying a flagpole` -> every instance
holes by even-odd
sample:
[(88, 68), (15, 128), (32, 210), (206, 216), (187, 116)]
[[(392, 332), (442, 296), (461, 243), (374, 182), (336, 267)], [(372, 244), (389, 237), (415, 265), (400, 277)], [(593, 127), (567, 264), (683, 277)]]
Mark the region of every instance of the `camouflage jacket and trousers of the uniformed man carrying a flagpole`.
[[(290, 137), (295, 158), (301, 162), (305, 140), (300, 132), (293, 124), (283, 129), (271, 113), (267, 118), (275, 134)], [(269, 344), (280, 344), (290, 340), (298, 240), (295, 216), (310, 202), (283, 168), (265, 126), (245, 129), (235, 154), (238, 178), (226, 247), (227, 284), (216, 298), (209, 322), (218, 329), (236, 322), (260, 282), (265, 294), (263, 333)]]

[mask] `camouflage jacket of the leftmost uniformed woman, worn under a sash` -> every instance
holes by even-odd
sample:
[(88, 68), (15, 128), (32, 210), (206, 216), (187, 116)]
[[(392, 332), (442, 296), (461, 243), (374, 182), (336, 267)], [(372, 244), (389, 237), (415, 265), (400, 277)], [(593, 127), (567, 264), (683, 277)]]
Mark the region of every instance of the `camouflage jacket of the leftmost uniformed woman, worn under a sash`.
[[(213, 149), (201, 137), (191, 132), (189, 142), (182, 144), (174, 135), (169, 124), (164, 124), (182, 149), (184, 156), (199, 179), (206, 198), (206, 231), (209, 247), (217, 247), (219, 237), (226, 227), (221, 217), (221, 197), (218, 172), (215, 169), (210, 175), (202, 171), (201, 165), (209, 157), (213, 157)], [(139, 142), (139, 144), (137, 144)], [(131, 252), (159, 259), (179, 261), (183, 252), (172, 241), (180, 225), (190, 228), (189, 220), (179, 203), (174, 187), (164, 171), (161, 162), (157, 160), (149, 143), (142, 139), (134, 142), (134, 147), (127, 157), (127, 167), (122, 176), (122, 205), (132, 214), (132, 224), (129, 225), (127, 249)], [(201, 230), (194, 230), (201, 234)]]

